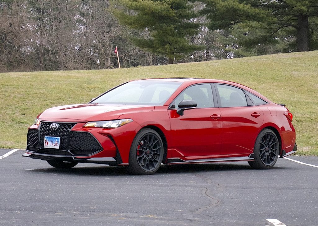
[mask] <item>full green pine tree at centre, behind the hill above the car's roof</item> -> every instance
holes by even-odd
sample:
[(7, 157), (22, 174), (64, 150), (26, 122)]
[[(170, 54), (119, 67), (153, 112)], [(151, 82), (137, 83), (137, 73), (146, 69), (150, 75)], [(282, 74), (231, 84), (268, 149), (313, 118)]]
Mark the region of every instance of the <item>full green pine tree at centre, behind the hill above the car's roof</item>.
[[(149, 38), (133, 38), (136, 46), (168, 57), (169, 64), (183, 53), (201, 49), (189, 44), (186, 37), (196, 35), (201, 26), (192, 23), (193, 7), (184, 0), (122, 0), (128, 10), (115, 10), (120, 22), (129, 28), (147, 31)], [(131, 11), (132, 10), (132, 11)]]

